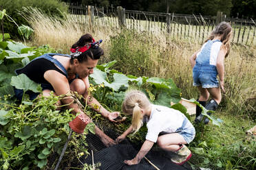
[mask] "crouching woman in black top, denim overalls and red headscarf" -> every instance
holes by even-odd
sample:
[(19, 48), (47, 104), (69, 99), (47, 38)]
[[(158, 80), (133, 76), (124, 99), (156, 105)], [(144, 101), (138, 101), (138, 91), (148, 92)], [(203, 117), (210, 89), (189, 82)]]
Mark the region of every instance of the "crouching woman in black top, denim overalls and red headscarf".
[[(88, 76), (94, 73), (94, 67), (97, 65), (100, 56), (104, 51), (99, 47), (101, 41), (95, 42), (91, 34), (85, 34), (72, 46), (71, 55), (63, 55), (61, 53), (47, 53), (43, 56), (35, 58), (28, 65), (16, 71), (17, 75), (24, 73), (30, 80), (41, 84), (43, 96), (49, 96), (51, 91), (54, 95), (66, 95), (70, 90), (76, 91), (79, 95), (83, 95), (85, 102), (103, 117), (114, 121), (120, 112), (109, 112), (100, 103), (89, 97), (89, 80)], [(18, 99), (22, 99), (23, 90), (15, 89)], [(30, 100), (35, 99), (39, 93), (29, 92)], [(73, 108), (72, 114), (83, 111), (73, 102), (72, 97), (64, 97), (58, 101), (58, 105), (67, 105), (67, 108)], [(105, 145), (114, 145), (114, 141), (105, 135), (96, 127), (96, 134), (102, 139)]]

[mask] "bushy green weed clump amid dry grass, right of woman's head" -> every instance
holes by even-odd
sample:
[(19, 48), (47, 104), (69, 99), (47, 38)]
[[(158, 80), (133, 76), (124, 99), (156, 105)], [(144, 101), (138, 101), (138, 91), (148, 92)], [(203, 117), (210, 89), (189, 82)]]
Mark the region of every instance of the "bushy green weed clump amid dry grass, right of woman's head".
[(141, 48), (141, 44), (147, 44), (144, 36), (123, 30), (117, 36), (112, 36), (110, 42), (109, 59), (118, 63), (114, 69), (125, 74), (145, 75), (149, 49)]

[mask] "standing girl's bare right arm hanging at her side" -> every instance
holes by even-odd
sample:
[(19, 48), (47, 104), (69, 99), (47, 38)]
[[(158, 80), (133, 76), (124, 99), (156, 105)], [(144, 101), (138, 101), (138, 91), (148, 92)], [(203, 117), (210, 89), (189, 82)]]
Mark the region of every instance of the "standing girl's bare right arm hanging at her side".
[(226, 55), (226, 49), (221, 47), (220, 52), (217, 55), (216, 67), (217, 67), (217, 73), (219, 74), (219, 77), (220, 77), (220, 87), (222, 88), (224, 93), (225, 93), (225, 89), (224, 89), (224, 58), (225, 58), (225, 55)]

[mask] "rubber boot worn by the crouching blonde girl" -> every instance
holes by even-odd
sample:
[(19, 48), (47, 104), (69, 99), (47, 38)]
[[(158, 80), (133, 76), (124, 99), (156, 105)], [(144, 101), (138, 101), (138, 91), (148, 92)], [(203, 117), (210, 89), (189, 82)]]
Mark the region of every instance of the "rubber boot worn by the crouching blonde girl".
[(183, 165), (186, 161), (188, 161), (192, 153), (189, 150), (188, 147), (186, 147), (184, 144), (179, 144), (180, 147), (177, 151), (175, 151), (175, 156), (171, 158), (171, 161), (175, 163), (176, 165)]

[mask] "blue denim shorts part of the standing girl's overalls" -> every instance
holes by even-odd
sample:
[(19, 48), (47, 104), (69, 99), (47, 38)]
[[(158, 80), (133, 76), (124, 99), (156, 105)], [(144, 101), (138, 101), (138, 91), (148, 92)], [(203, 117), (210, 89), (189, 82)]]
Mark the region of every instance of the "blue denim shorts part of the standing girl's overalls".
[(193, 86), (202, 86), (202, 88), (219, 87), (216, 66), (210, 64), (195, 64), (193, 67)]

